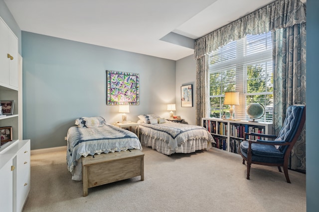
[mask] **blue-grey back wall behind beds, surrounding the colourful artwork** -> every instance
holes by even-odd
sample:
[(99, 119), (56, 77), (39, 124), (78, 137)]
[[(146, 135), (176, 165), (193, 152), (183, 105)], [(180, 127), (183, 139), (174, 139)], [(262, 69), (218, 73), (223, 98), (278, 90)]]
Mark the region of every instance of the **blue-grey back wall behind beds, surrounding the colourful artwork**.
[[(175, 102), (175, 61), (22, 31), (23, 138), (31, 149), (66, 145), (75, 119), (120, 121), (119, 106), (106, 105), (106, 70), (140, 74), (140, 105), (128, 120), (166, 116)], [(172, 92), (173, 91), (173, 92)]]

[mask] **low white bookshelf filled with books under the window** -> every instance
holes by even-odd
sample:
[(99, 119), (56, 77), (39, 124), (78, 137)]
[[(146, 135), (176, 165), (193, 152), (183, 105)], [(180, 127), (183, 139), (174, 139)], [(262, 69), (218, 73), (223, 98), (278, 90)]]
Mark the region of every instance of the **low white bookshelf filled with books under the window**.
[[(248, 122), (233, 121), (218, 118), (202, 118), (202, 127), (213, 136), (216, 144), (215, 148), (225, 150), (227, 152), (240, 154), (238, 147), (244, 140), (245, 132), (255, 132), (262, 134), (272, 134), (272, 123), (265, 122)], [(249, 139), (264, 139), (250, 137)]]

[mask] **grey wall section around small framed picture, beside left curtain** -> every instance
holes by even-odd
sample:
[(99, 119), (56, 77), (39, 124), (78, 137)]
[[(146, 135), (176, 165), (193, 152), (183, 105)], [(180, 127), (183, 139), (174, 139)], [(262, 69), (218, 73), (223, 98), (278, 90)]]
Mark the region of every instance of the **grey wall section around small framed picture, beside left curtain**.
[[(194, 55), (176, 61), (176, 114), (190, 125), (196, 125), (195, 79), (196, 61)], [(193, 85), (193, 107), (181, 107), (180, 86), (188, 84)]]

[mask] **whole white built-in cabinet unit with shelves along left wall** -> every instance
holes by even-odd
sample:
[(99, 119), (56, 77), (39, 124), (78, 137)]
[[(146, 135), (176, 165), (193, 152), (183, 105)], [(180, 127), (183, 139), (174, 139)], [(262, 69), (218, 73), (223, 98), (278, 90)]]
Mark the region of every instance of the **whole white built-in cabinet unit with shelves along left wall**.
[(22, 58), (18, 39), (0, 17), (0, 101), (14, 100), (13, 115), (0, 117), (12, 127), (12, 141), (0, 146), (0, 211), (21, 212), (30, 190), (30, 140), (22, 140)]

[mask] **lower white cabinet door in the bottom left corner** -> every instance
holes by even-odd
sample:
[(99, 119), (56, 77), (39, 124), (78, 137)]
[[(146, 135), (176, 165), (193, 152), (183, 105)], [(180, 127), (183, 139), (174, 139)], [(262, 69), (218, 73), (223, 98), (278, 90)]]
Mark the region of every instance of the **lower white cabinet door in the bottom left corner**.
[(0, 169), (0, 207), (3, 212), (13, 211), (13, 165), (12, 159)]

